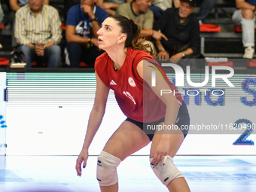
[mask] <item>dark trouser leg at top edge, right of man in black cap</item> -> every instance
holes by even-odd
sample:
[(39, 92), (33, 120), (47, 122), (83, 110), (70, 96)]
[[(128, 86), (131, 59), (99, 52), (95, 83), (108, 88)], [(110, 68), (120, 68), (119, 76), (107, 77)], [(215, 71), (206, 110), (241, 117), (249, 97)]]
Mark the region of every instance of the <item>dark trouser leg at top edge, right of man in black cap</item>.
[(197, 20), (200, 20), (200, 23), (202, 23), (202, 20), (206, 19), (208, 14), (212, 11), (212, 8), (214, 8), (216, 2), (217, 0), (203, 0), (200, 5), (200, 11), (197, 14)]

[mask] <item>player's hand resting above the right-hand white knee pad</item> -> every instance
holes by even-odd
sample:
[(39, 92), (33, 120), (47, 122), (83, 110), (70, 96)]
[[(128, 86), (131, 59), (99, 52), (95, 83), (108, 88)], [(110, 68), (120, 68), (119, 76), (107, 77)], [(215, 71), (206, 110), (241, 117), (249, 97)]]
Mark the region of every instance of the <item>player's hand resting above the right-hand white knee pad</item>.
[(163, 138), (160, 139), (160, 141), (156, 145), (156, 148), (151, 154), (151, 158), (152, 158), (151, 163), (156, 164), (156, 163), (160, 163), (163, 160), (163, 157), (165, 157), (169, 153), (169, 148), (170, 148), (169, 143), (170, 143), (169, 138), (165, 136), (163, 136)]

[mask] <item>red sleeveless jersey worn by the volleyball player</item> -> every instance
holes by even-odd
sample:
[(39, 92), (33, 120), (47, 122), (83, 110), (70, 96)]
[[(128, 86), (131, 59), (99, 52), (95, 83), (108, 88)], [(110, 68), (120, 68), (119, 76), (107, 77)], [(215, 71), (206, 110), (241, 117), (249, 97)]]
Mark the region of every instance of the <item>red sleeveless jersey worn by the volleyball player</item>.
[[(102, 82), (114, 90), (117, 103), (126, 117), (139, 122), (151, 123), (165, 117), (166, 105), (151, 87), (139, 77), (137, 65), (142, 59), (154, 61), (153, 64), (163, 74), (163, 78), (169, 84), (170, 89), (178, 93), (154, 57), (143, 50), (133, 50), (133, 48), (128, 47), (123, 66), (117, 72), (114, 71), (112, 59), (107, 53), (102, 53), (96, 59), (95, 70)], [(181, 105), (181, 94), (175, 94), (175, 96)]]

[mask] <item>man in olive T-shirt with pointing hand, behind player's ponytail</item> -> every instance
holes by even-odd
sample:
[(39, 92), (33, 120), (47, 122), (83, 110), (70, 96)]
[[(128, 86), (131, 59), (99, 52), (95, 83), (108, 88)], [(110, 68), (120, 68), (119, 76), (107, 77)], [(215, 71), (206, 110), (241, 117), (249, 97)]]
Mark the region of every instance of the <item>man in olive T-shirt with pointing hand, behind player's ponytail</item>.
[[(166, 39), (166, 36), (163, 35), (162, 32), (153, 30), (154, 16), (153, 12), (148, 9), (149, 6), (151, 6), (151, 0), (133, 0), (133, 2), (120, 5), (117, 8), (115, 15), (123, 15), (124, 17), (133, 20), (135, 23), (138, 23), (142, 28), (140, 36), (149, 41), (151, 38), (157, 40), (160, 40), (161, 38)], [(146, 41), (146, 43), (150, 43), (149, 41)], [(154, 50), (154, 44), (151, 43), (151, 47)], [(154, 53), (155, 52), (156, 51), (154, 51)]]

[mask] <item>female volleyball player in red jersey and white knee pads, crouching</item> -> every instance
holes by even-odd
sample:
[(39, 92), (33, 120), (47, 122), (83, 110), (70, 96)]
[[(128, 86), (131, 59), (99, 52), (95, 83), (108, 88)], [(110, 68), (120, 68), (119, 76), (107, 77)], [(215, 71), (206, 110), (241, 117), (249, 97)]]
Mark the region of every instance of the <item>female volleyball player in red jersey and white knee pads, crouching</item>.
[[(81, 176), (81, 165), (84, 162), (85, 168), (88, 148), (102, 122), (108, 91), (113, 89), (127, 119), (99, 154), (97, 179), (101, 191), (117, 191), (119, 163), (152, 141), (150, 165), (154, 173), (169, 191), (187, 192), (190, 191), (187, 182), (172, 161), (187, 135), (186, 130), (179, 129), (189, 124), (187, 107), (163, 69), (147, 53), (148, 47), (142, 44), (139, 32), (139, 26), (123, 16), (108, 17), (97, 32), (99, 48), (105, 53), (95, 63), (96, 97), (76, 170)], [(163, 94), (162, 90), (176, 94)], [(157, 130), (161, 134), (144, 133), (143, 126), (145, 130), (158, 124), (179, 128), (167, 132)]]

